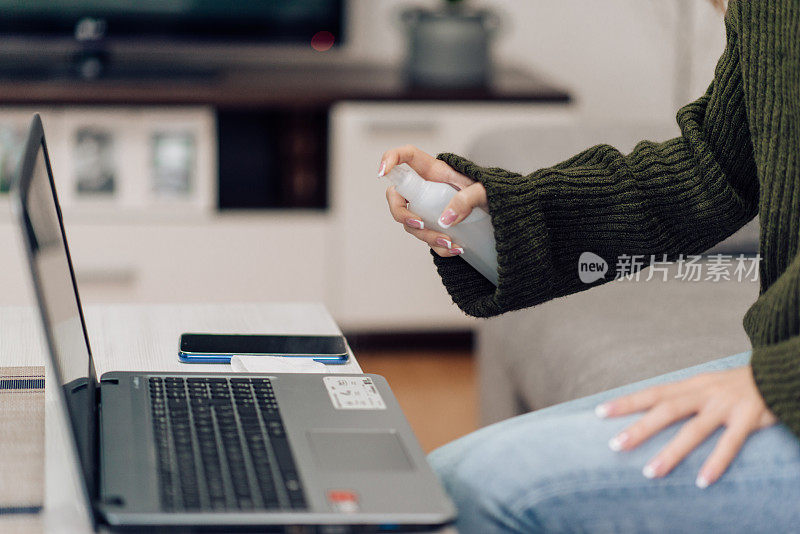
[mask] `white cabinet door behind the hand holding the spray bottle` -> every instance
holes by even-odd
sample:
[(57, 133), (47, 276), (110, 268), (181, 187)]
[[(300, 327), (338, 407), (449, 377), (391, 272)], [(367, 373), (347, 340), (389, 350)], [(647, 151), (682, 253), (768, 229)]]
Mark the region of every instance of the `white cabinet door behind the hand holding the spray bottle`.
[(381, 154), (414, 144), (464, 154), (485, 132), (575, 124), (564, 104), (342, 103), (331, 114), (331, 312), (343, 328), (467, 327), (428, 248), (395, 223), (386, 206)]

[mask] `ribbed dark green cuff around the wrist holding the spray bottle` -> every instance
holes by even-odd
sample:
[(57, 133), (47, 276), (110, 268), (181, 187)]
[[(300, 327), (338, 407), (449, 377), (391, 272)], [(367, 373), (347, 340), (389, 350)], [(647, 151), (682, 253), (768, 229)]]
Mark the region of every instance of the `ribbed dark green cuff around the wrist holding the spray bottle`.
[(437, 157), (486, 188), (497, 242), (496, 288), (462, 258), (434, 254), (453, 302), (468, 315), (490, 317), (547, 300), (554, 272), (544, 219), (530, 179), (499, 168), (480, 167), (455, 154)]

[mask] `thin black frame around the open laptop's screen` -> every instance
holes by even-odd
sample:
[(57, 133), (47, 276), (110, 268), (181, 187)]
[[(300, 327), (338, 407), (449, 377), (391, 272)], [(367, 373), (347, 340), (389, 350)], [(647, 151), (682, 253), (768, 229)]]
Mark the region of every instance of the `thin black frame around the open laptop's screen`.
[(64, 415), (66, 416), (67, 423), (70, 425), (70, 443), (72, 446), (72, 452), (75, 455), (75, 458), (78, 460), (78, 467), (80, 470), (80, 477), (82, 479), (81, 483), (81, 491), (83, 499), (86, 503), (86, 509), (90, 511), (90, 518), (92, 521), (93, 526), (97, 525), (98, 518), (96, 515), (95, 507), (93, 505), (95, 499), (97, 498), (99, 485), (98, 485), (98, 428), (97, 428), (97, 402), (96, 402), (96, 395), (97, 395), (97, 372), (94, 366), (94, 358), (92, 357), (92, 349), (89, 343), (89, 336), (86, 330), (86, 321), (83, 315), (83, 307), (81, 306), (81, 299), (80, 294), (78, 292), (78, 284), (75, 279), (75, 270), (72, 266), (72, 257), (70, 255), (69, 246), (67, 244), (67, 237), (66, 232), (64, 231), (64, 221), (61, 214), (61, 206), (58, 203), (58, 195), (56, 193), (56, 186), (55, 181), (53, 180), (53, 170), (50, 165), (50, 156), (47, 150), (47, 143), (44, 137), (44, 128), (42, 126), (42, 119), (38, 113), (33, 115), (31, 119), (30, 127), (28, 129), (28, 137), (25, 141), (24, 149), (22, 152), (22, 157), (19, 162), (18, 172), (16, 181), (14, 186), (11, 188), (11, 206), (12, 210), (15, 213), (16, 217), (18, 218), (19, 227), (22, 233), (22, 241), (24, 242), (25, 252), (27, 254), (28, 265), (30, 267), (31, 277), (33, 279), (33, 287), (34, 292), (36, 294), (36, 301), (37, 307), (39, 309), (39, 317), (41, 318), (42, 325), (44, 326), (44, 336), (45, 341), (47, 342), (48, 353), (51, 359), (51, 362), (54, 366), (54, 370), (58, 376), (60, 381), (61, 373), (59, 370), (58, 359), (56, 358), (55, 354), (57, 352), (56, 342), (53, 338), (53, 325), (50, 324), (50, 321), (47, 317), (47, 313), (45, 312), (45, 305), (46, 301), (44, 298), (44, 293), (42, 290), (42, 283), (40, 273), (36, 268), (36, 236), (33, 233), (33, 226), (31, 223), (30, 214), (28, 212), (28, 193), (30, 191), (30, 186), (33, 180), (34, 169), (36, 166), (36, 159), (39, 155), (39, 151), (42, 151), (42, 155), (44, 157), (45, 166), (47, 169), (47, 177), (50, 182), (50, 190), (53, 194), (53, 200), (55, 202), (56, 213), (58, 216), (58, 225), (61, 231), (61, 239), (64, 245), (64, 250), (67, 256), (67, 264), (69, 265), (69, 273), (70, 278), (72, 281), (72, 287), (75, 292), (75, 299), (76, 304), (78, 306), (78, 314), (81, 321), (81, 328), (83, 330), (83, 337), (86, 343), (87, 354), (89, 356), (88, 362), (88, 369), (87, 369), (87, 383), (85, 391), (81, 393), (81, 396), (85, 397), (88, 395), (88, 399), (85, 402), (86, 413), (85, 420), (88, 421), (87, 433), (88, 435), (86, 438), (87, 447), (87, 458), (82, 457), (81, 453), (81, 444), (78, 442), (78, 436), (76, 429), (74, 428), (75, 423), (72, 419), (72, 415), (68, 408), (68, 405), (73, 402), (73, 399), (70, 398), (67, 388), (63, 387), (64, 384), (57, 384), (57, 389), (60, 391), (59, 395), (61, 395), (62, 402), (60, 403), (64, 409)]

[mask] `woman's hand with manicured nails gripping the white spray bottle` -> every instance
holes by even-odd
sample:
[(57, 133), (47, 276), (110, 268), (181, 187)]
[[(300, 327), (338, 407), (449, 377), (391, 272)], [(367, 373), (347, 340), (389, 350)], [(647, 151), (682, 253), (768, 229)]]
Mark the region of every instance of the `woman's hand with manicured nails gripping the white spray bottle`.
[[(444, 182), (459, 190), (439, 216), (439, 225), (442, 228), (450, 228), (454, 224), (458, 224), (475, 207), (484, 209), (488, 207), (486, 190), (483, 185), (411, 145), (384, 152), (378, 167), (378, 177), (401, 163), (407, 163), (426, 180)], [(408, 209), (408, 201), (395, 191), (394, 186), (390, 186), (386, 190), (386, 200), (389, 202), (389, 211), (394, 220), (402, 224), (406, 232), (430, 245), (439, 256), (458, 256), (464, 252), (464, 249), (458, 243), (453, 243), (447, 234), (433, 228), (425, 228), (422, 218)]]

